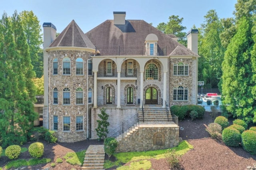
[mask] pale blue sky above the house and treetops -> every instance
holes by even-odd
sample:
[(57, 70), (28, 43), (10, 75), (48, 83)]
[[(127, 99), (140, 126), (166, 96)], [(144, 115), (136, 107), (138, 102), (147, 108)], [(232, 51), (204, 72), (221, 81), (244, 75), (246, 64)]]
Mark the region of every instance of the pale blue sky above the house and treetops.
[[(106, 20), (113, 12), (126, 12), (126, 20), (144, 20), (156, 27), (167, 23), (169, 16), (184, 18), (182, 26), (188, 32), (193, 25), (199, 28), (209, 10), (219, 18), (233, 17), (237, 0), (0, 0), (0, 14), (12, 16), (14, 10), (33, 11), (40, 25), (51, 22), (60, 33), (75, 20), (84, 33)], [(2, 17), (1, 17), (2, 18)]]

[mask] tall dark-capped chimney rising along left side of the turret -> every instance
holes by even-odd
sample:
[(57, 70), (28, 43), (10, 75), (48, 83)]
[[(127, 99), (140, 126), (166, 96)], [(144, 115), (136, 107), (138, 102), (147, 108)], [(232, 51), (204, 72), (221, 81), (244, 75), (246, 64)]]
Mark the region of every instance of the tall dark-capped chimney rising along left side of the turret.
[(48, 112), (48, 53), (45, 49), (56, 38), (56, 27), (50, 22), (44, 22), (44, 107), (43, 107), (43, 127), (49, 129), (49, 112)]

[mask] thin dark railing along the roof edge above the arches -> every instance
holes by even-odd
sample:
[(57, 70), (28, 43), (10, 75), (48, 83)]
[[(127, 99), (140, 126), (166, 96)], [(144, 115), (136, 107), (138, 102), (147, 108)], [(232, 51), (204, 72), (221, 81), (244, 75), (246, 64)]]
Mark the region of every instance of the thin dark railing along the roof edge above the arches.
[[(167, 47), (155, 47), (152, 52), (152, 56), (166, 56)], [(99, 52), (100, 53), (99, 53)], [(116, 47), (100, 47), (96, 46), (96, 51), (98, 55), (142, 55), (151, 56), (150, 49), (148, 47), (126, 47), (126, 46), (116, 46)]]

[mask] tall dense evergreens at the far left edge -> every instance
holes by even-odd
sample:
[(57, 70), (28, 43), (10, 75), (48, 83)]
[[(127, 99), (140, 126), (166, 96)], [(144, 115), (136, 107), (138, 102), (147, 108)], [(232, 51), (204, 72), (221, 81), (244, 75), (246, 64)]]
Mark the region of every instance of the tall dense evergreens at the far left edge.
[(0, 20), (0, 140), (2, 146), (26, 142), (34, 112), (35, 73), (17, 11)]

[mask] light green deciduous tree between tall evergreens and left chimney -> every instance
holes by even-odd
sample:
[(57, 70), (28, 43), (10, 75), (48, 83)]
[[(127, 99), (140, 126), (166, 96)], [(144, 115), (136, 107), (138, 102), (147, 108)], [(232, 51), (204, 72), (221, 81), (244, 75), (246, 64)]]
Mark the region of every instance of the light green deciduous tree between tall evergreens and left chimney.
[(37, 16), (32, 11), (22, 11), (20, 13), (22, 27), (26, 35), (26, 41), (29, 45), (31, 63), (34, 66), (36, 77), (40, 78), (44, 74), (44, 61), (42, 53), (42, 34), (41, 26)]

